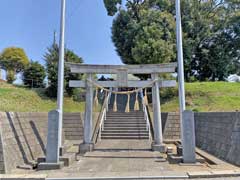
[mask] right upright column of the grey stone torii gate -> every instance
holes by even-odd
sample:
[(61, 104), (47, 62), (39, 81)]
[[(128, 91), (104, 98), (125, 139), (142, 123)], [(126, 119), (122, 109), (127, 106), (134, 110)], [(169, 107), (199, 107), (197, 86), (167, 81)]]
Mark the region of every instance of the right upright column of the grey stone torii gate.
[[(158, 74), (152, 74), (151, 76), (152, 80), (158, 79)], [(154, 119), (154, 142), (152, 143), (152, 150), (166, 152), (166, 146), (163, 144), (159, 84), (157, 81), (152, 87), (152, 103)]]

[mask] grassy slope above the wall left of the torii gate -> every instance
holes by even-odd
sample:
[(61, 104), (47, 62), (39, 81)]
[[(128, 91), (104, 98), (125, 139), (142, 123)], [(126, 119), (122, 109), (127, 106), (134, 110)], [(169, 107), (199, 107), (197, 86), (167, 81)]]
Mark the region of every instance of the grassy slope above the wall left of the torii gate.
[[(47, 98), (42, 89), (30, 90), (0, 82), (0, 111), (48, 112), (52, 109), (56, 109), (56, 99)], [(65, 112), (83, 110), (83, 102), (64, 98)]]

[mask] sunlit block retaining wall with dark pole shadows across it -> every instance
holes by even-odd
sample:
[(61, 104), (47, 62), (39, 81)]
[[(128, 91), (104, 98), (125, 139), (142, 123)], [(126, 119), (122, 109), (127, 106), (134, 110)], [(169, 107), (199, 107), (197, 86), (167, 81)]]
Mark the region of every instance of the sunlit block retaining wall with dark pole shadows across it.
[(47, 113), (0, 113), (5, 172), (45, 153)]

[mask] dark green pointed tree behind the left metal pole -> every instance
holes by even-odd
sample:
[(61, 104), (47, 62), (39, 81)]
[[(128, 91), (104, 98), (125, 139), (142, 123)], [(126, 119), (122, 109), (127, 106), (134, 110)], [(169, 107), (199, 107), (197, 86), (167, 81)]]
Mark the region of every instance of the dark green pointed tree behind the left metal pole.
[[(78, 57), (73, 51), (65, 49), (65, 62), (82, 63), (81, 57)], [(58, 60), (59, 60), (59, 48), (56, 43), (53, 43), (51, 47), (47, 49), (44, 55), (44, 60), (46, 62), (47, 77), (49, 86), (46, 93), (49, 97), (57, 97), (57, 79), (58, 79)], [(69, 80), (79, 80), (81, 79), (80, 74), (70, 73), (70, 69), (65, 66), (64, 69), (64, 79), (65, 79), (65, 90), (69, 96), (73, 94), (73, 88), (69, 87)]]

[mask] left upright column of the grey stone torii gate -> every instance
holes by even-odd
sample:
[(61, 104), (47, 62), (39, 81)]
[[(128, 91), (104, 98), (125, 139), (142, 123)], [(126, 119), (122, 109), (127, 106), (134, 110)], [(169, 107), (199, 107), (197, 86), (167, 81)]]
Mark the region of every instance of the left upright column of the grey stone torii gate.
[(92, 74), (87, 74), (86, 80), (86, 105), (84, 115), (84, 135), (83, 143), (80, 144), (80, 153), (92, 151), (94, 144), (92, 143), (92, 117), (93, 117), (93, 80)]

